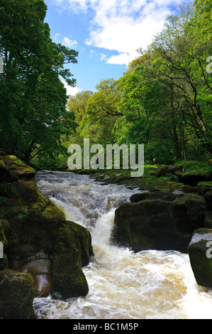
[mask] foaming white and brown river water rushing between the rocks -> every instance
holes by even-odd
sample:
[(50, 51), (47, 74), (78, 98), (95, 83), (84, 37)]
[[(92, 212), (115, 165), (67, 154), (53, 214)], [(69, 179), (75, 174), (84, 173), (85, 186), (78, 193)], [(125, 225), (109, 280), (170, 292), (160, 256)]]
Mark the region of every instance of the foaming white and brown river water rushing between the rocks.
[(67, 220), (87, 227), (94, 249), (94, 257), (83, 268), (88, 295), (66, 301), (35, 298), (38, 318), (212, 318), (212, 290), (196, 284), (188, 254), (156, 250), (135, 254), (113, 245), (115, 210), (139, 190), (103, 185), (74, 173), (40, 171), (37, 182)]

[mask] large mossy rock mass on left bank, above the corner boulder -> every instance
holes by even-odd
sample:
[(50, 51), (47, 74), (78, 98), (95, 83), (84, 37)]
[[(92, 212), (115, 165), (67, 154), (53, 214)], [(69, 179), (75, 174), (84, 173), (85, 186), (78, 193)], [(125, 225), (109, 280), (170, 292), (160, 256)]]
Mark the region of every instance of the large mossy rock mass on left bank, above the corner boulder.
[(82, 266), (92, 254), (87, 229), (67, 222), (63, 212), (38, 190), (35, 171), (15, 156), (0, 156), (0, 269), (33, 277), (36, 296), (85, 296)]

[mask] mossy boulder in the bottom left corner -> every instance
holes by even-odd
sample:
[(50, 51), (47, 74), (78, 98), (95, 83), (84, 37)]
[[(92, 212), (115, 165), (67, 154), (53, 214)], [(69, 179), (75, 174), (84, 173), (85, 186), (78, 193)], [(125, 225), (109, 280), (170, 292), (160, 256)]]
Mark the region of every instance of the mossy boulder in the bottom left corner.
[(35, 319), (34, 298), (30, 274), (0, 271), (0, 319)]

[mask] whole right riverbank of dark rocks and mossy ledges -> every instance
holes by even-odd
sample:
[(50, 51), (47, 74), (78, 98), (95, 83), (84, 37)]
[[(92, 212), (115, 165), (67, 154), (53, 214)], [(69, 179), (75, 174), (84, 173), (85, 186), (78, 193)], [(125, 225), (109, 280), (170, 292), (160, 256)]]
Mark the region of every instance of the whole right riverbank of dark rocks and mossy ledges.
[[(129, 171), (77, 171), (102, 183), (145, 190), (115, 214), (113, 240), (134, 252), (177, 250), (189, 254), (196, 282), (212, 288), (212, 159), (145, 166), (144, 175)], [(207, 246), (209, 245), (209, 246)]]

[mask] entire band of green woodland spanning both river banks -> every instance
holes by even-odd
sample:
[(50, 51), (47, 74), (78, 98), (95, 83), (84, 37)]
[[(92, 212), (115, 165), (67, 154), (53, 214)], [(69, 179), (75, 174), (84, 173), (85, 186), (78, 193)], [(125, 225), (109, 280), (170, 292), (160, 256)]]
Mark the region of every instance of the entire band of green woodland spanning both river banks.
[[(67, 166), (69, 144), (145, 144), (145, 161), (211, 156), (210, 0), (170, 16), (119, 80), (67, 95), (77, 51), (50, 39), (43, 0), (0, 0), (0, 146), (24, 161)], [(35, 158), (33, 157), (36, 156)]]

